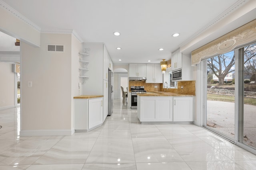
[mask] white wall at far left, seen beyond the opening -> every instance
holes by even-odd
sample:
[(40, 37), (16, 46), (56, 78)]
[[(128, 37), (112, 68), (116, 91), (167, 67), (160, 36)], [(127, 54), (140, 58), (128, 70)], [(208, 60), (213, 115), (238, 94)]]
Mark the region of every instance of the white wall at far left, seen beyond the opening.
[(12, 64), (0, 62), (0, 109), (14, 107), (14, 73)]

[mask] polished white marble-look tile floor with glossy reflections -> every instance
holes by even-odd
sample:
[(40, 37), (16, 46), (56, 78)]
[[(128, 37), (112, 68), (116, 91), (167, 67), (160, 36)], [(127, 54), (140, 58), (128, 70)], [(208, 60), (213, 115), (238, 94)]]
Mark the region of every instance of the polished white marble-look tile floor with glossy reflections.
[(0, 170), (256, 169), (256, 155), (206, 129), (141, 125), (136, 113), (114, 100), (113, 114), (90, 132), (19, 137), (20, 108), (0, 110)]

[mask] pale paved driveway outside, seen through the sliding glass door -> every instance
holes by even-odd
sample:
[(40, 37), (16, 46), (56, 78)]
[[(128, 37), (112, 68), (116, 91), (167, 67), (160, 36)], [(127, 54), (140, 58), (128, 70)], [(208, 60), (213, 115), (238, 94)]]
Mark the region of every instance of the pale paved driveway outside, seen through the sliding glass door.
[[(235, 104), (207, 100), (207, 124), (214, 130), (234, 138)], [(244, 105), (244, 143), (256, 147), (256, 106)]]

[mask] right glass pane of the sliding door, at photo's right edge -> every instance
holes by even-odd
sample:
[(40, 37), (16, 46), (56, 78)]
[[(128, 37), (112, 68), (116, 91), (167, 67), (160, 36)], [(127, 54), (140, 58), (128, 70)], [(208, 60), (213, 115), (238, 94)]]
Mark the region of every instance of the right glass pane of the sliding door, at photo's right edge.
[[(241, 54), (241, 53), (240, 53)], [(256, 148), (256, 43), (242, 49), (244, 92), (242, 101), (243, 113), (242, 134), (240, 142)]]

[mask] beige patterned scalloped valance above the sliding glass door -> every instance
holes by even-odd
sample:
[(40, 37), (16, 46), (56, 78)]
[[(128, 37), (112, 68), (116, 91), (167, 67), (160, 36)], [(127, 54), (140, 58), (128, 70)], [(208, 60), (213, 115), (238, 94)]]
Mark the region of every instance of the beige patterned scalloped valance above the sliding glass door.
[(253, 20), (226, 35), (192, 51), (191, 64), (200, 63), (202, 59), (207, 59), (218, 54), (232, 51), (236, 47), (246, 45), (256, 40), (256, 20)]

